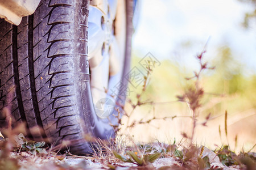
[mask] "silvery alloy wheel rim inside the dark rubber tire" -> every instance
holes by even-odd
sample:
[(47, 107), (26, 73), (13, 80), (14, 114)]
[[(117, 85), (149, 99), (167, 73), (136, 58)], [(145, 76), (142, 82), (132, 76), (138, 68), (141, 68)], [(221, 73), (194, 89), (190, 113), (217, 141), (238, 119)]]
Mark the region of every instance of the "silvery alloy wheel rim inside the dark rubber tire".
[(125, 1), (91, 1), (88, 20), (90, 86), (96, 114), (113, 112), (125, 59)]

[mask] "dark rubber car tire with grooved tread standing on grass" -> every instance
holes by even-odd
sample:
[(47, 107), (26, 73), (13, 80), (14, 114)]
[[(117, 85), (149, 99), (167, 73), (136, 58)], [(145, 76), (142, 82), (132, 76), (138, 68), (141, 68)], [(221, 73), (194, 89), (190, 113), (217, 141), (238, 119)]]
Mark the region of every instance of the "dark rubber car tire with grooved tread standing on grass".
[[(47, 138), (56, 145), (72, 141), (74, 154), (92, 151), (85, 134), (115, 137), (109, 121), (96, 116), (90, 94), (88, 8), (88, 0), (43, 0), (18, 27), (0, 20), (1, 126), (6, 125), (2, 110), (11, 104), (15, 124), (26, 122), (37, 140)], [(133, 1), (127, 1), (123, 77), (130, 69), (132, 10)], [(122, 109), (124, 103), (119, 95), (117, 107)], [(118, 124), (114, 116), (111, 119)], [(40, 135), (31, 133), (34, 126), (42, 127)]]

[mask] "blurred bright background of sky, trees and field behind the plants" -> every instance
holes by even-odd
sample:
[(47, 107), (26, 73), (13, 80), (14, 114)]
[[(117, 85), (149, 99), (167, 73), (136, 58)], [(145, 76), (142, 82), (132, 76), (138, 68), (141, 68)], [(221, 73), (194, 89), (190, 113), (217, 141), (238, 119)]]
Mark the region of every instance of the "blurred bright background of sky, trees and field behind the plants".
[[(206, 70), (200, 79), (205, 95), (201, 100), (195, 143), (209, 148), (226, 145), (236, 151), (249, 151), (256, 143), (256, 1), (254, 0), (142, 0), (138, 25), (133, 36), (133, 63), (150, 52), (160, 65), (154, 67), (142, 99), (153, 104), (138, 108), (123, 124), (152, 117), (191, 116), (177, 95), (194, 83), (186, 80), (199, 71), (196, 55), (206, 50)], [(133, 103), (142, 84), (127, 94)], [(225, 137), (225, 111), (228, 112), (228, 139)], [(213, 120), (201, 125), (211, 113)], [(132, 129), (122, 129), (135, 141), (166, 143), (180, 141), (181, 133), (191, 134), (191, 118), (153, 120)], [(237, 144), (236, 139), (237, 138)], [(255, 148), (254, 148), (255, 151)]]

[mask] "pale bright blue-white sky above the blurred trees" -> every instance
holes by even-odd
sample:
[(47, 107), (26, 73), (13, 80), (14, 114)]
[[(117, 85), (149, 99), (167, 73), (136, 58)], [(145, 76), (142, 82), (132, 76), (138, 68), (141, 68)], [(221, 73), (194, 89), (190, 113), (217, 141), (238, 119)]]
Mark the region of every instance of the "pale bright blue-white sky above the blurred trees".
[(245, 12), (253, 10), (238, 0), (141, 0), (133, 50), (139, 57), (148, 52), (159, 59), (178, 57), (193, 69), (206, 43), (206, 57), (228, 45), (246, 73), (256, 74), (256, 24), (242, 27)]

